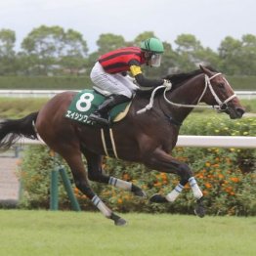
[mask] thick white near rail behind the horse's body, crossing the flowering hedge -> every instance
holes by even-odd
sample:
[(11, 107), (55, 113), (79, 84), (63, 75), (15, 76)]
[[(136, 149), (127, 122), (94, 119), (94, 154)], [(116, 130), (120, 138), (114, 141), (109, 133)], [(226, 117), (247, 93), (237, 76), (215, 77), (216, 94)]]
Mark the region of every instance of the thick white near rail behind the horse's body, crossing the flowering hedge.
[[(18, 142), (25, 144), (41, 144), (41, 141), (22, 139)], [(189, 136), (180, 135), (177, 142), (178, 147), (192, 148), (237, 148), (237, 149), (256, 149), (256, 137), (252, 136)]]

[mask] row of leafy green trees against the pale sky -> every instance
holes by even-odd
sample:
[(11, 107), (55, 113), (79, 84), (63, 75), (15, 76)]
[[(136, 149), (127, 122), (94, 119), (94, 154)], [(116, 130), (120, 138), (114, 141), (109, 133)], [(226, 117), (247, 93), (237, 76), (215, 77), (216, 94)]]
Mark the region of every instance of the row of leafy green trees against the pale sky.
[[(41, 25), (30, 31), (16, 53), (15, 31), (0, 30), (0, 74), (10, 75), (78, 75), (89, 74), (100, 55), (116, 48), (139, 46), (153, 31), (145, 31), (134, 40), (126, 41), (122, 35), (103, 33), (96, 44), (98, 49), (88, 55), (87, 42), (82, 34), (61, 26)], [(161, 68), (146, 68), (147, 75), (163, 76), (170, 72), (190, 71), (198, 64), (208, 64), (227, 75), (256, 75), (256, 36), (244, 34), (241, 39), (227, 36), (220, 42), (217, 52), (203, 47), (192, 34), (180, 34), (174, 44), (164, 42), (164, 62)], [(11, 57), (10, 57), (11, 53)], [(152, 73), (151, 73), (152, 71)]]

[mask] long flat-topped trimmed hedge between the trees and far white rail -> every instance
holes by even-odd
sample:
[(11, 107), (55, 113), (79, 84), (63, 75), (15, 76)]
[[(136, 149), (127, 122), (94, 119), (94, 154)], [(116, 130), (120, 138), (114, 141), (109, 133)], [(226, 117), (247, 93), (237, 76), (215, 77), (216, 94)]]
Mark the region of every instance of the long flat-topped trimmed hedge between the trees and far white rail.
[[(228, 76), (235, 90), (255, 90), (256, 76)], [(62, 90), (91, 88), (88, 76), (0, 76), (0, 89)]]

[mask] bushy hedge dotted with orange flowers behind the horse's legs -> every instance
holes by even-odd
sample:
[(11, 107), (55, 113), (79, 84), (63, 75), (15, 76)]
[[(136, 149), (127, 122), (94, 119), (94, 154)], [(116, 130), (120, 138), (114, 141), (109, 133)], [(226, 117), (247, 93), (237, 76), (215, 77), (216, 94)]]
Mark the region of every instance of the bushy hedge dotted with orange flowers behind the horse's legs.
[[(182, 133), (256, 136), (256, 118), (232, 121), (224, 115), (205, 117), (202, 114), (192, 114), (184, 124)], [(256, 215), (255, 149), (176, 148), (173, 155), (192, 167), (198, 185), (204, 193), (207, 214)], [(31, 146), (25, 150), (19, 168), (23, 188), (21, 207), (49, 207), (50, 172), (54, 166), (54, 160), (45, 147)], [(104, 169), (111, 176), (132, 181), (149, 196), (155, 192), (171, 192), (179, 182), (175, 175), (150, 171), (142, 164), (107, 157)], [(71, 175), (70, 179), (72, 180)], [(174, 203), (167, 204), (149, 203), (149, 198), (136, 198), (130, 192), (103, 184), (92, 183), (92, 187), (115, 211), (193, 213), (194, 198), (189, 186), (186, 186)], [(60, 188), (61, 208), (70, 208), (62, 184)], [(75, 188), (73, 190), (82, 209), (95, 209), (85, 195)]]

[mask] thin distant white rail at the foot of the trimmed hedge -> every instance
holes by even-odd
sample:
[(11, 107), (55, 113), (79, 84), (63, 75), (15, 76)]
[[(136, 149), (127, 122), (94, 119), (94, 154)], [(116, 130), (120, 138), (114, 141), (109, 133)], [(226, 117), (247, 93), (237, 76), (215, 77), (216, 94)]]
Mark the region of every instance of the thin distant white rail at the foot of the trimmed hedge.
[[(79, 91), (79, 90), (0, 90), (0, 97), (16, 97), (16, 98), (52, 98), (56, 94), (64, 91)], [(235, 94), (240, 99), (255, 99), (256, 91), (235, 91)]]

